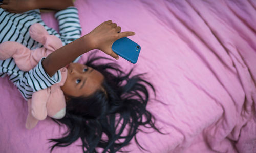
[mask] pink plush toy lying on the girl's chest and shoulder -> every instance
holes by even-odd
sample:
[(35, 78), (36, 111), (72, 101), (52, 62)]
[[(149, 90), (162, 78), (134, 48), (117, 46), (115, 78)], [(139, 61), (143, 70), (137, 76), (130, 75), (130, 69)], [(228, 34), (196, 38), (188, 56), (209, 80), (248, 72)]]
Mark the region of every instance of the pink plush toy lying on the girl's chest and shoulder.
[[(12, 57), (20, 70), (29, 71), (34, 68), (42, 57), (62, 47), (62, 42), (54, 35), (49, 35), (40, 24), (33, 24), (29, 29), (32, 39), (44, 45), (42, 48), (29, 50), (20, 43), (6, 41), (0, 44), (0, 60)], [(28, 116), (26, 128), (32, 129), (39, 120), (44, 120), (47, 115), (60, 119), (66, 114), (66, 101), (60, 86), (67, 79), (67, 69), (61, 68), (61, 81), (50, 88), (34, 92), (28, 100)]]

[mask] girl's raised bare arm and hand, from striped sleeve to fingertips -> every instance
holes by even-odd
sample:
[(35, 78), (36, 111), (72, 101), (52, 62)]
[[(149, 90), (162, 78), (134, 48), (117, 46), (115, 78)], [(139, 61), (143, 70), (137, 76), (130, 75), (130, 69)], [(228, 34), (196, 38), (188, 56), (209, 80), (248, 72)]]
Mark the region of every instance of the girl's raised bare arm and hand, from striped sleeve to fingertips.
[(120, 33), (120, 31), (121, 27), (117, 26), (115, 23), (113, 24), (111, 20), (105, 21), (89, 34), (52, 52), (42, 61), (42, 66), (51, 77), (60, 68), (65, 67), (78, 56), (93, 49), (99, 49), (113, 58), (118, 59), (118, 55), (111, 49), (114, 41), (123, 37), (135, 35), (134, 32)]

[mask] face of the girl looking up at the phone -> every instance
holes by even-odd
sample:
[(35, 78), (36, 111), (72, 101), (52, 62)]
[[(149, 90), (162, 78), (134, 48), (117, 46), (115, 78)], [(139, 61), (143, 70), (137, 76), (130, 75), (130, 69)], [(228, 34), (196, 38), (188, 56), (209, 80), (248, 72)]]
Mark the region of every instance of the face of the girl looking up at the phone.
[(89, 96), (101, 88), (104, 76), (97, 70), (79, 63), (68, 66), (68, 76), (61, 86), (65, 97)]

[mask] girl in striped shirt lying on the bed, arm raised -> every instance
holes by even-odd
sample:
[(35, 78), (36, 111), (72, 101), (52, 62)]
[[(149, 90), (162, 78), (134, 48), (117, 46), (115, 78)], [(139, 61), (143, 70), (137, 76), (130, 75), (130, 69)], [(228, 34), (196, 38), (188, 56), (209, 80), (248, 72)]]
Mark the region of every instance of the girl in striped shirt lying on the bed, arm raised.
[[(109, 20), (81, 36), (78, 11), (72, 2), (36, 2), (2, 2), (0, 43), (16, 41), (29, 49), (41, 47), (29, 35), (31, 25), (39, 23), (50, 35), (58, 37), (63, 46), (42, 58), (29, 71), (20, 70), (13, 58), (0, 60), (0, 76), (9, 76), (22, 96), (29, 100), (35, 91), (58, 83), (61, 78), (59, 69), (67, 67), (67, 79), (61, 86), (67, 104), (66, 115), (55, 121), (65, 124), (69, 130), (62, 138), (50, 140), (55, 142), (51, 150), (56, 146), (68, 146), (80, 138), (84, 152), (96, 152), (96, 148), (102, 148), (103, 152), (116, 152), (128, 145), (133, 137), (136, 140), (140, 126), (160, 132), (154, 125), (154, 116), (146, 110), (150, 97), (148, 89), (154, 91), (154, 88), (142, 78), (142, 74), (131, 77), (132, 70), (124, 73), (115, 63), (96, 64), (96, 61), (105, 59), (103, 57), (89, 56), (84, 65), (75, 63), (80, 55), (93, 49), (99, 49), (118, 59), (118, 55), (111, 49), (113, 42), (135, 33), (120, 32), (121, 27)], [(58, 10), (55, 17), (59, 33), (45, 25), (38, 8)], [(120, 125), (118, 128), (117, 124)], [(124, 128), (126, 133), (123, 133)]]

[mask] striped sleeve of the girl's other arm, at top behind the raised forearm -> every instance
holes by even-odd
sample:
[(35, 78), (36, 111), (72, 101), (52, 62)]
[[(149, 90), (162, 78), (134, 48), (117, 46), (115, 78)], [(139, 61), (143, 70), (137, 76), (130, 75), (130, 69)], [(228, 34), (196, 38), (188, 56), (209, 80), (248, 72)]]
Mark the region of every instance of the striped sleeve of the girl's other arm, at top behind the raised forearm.
[(59, 24), (60, 39), (66, 44), (81, 37), (81, 25), (78, 10), (75, 7), (68, 7), (55, 14)]

